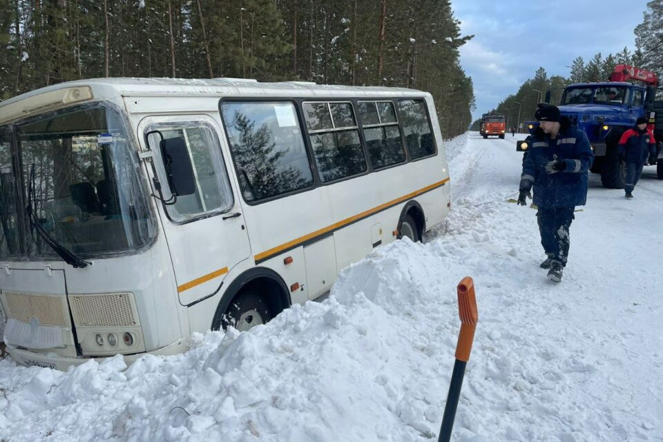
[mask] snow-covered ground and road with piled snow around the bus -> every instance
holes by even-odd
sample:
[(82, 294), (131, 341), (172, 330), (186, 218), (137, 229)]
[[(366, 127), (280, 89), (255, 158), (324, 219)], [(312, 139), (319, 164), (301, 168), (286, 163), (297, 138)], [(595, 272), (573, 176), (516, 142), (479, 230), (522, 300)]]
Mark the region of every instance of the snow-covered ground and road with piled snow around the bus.
[(0, 361), (4, 441), (437, 439), (472, 276), (479, 325), (454, 441), (663, 441), (663, 182), (590, 177), (564, 280), (546, 279), (515, 138), (447, 143), (452, 213), (378, 248), (324, 302), (189, 352), (67, 373)]

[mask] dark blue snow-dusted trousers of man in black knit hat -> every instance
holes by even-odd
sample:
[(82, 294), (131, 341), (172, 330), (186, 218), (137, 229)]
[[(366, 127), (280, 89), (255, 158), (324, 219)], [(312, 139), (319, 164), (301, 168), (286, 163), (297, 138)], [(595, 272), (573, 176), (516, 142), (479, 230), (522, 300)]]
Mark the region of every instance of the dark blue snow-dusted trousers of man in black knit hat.
[(570, 206), (557, 209), (539, 209), (537, 212), (541, 245), (544, 246), (544, 251), (550, 259), (561, 262), (564, 267), (566, 267), (568, 247), (570, 246), (568, 229), (575, 218), (573, 215), (574, 209), (575, 206)]

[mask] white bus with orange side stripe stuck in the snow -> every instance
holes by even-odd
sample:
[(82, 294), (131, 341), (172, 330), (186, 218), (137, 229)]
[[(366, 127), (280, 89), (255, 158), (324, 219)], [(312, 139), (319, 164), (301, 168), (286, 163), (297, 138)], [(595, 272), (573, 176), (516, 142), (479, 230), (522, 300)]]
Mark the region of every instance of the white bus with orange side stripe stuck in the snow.
[(0, 103), (0, 305), (12, 358), (186, 350), (326, 294), (450, 210), (430, 94), (90, 79)]

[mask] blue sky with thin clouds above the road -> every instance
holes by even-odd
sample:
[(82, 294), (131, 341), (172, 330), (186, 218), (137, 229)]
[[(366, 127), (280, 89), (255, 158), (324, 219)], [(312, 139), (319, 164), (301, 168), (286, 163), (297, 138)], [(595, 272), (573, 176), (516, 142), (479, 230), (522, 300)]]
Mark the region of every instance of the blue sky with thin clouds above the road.
[(463, 35), (461, 65), (474, 82), (474, 118), (516, 93), (539, 67), (568, 77), (575, 57), (588, 61), (635, 50), (633, 29), (647, 0), (452, 0)]

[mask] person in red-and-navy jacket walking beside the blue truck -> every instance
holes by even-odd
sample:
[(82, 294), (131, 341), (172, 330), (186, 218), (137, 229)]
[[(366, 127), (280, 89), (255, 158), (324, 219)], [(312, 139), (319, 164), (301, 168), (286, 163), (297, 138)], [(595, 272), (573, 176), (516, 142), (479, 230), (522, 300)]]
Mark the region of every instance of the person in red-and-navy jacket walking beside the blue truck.
[(624, 180), (624, 192), (626, 198), (633, 198), (633, 189), (637, 180), (640, 180), (642, 166), (649, 158), (656, 155), (656, 141), (654, 134), (647, 128), (646, 117), (640, 117), (635, 121), (635, 127), (628, 129), (619, 139), (619, 160), (626, 161), (626, 179)]

